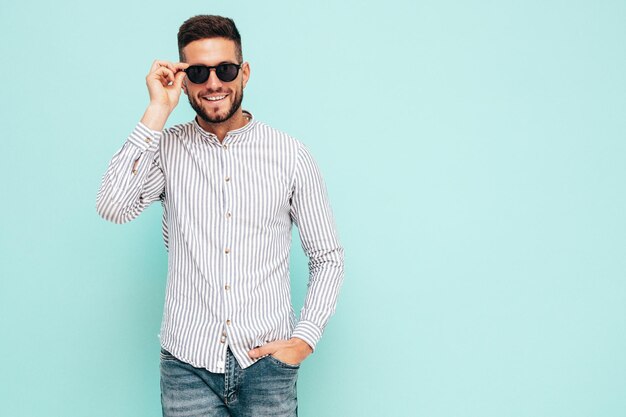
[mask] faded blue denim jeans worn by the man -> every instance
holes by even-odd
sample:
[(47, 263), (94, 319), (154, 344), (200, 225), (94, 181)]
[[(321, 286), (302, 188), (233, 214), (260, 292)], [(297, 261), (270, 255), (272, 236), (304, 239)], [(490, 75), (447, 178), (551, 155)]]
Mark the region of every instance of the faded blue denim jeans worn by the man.
[(163, 417), (296, 417), (298, 367), (267, 356), (241, 369), (228, 349), (214, 374), (161, 349)]

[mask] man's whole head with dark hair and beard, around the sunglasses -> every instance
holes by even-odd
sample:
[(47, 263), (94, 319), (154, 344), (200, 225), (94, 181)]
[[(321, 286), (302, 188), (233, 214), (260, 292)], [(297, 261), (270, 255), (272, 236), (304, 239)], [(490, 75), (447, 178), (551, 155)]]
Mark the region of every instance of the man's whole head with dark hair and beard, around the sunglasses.
[(188, 76), (183, 81), (189, 104), (205, 122), (225, 122), (240, 111), (250, 67), (243, 62), (241, 36), (232, 19), (206, 15), (188, 19), (178, 31), (178, 53), (181, 62), (192, 66), (241, 65), (232, 81), (221, 80), (219, 69), (210, 69), (204, 82), (193, 83)]

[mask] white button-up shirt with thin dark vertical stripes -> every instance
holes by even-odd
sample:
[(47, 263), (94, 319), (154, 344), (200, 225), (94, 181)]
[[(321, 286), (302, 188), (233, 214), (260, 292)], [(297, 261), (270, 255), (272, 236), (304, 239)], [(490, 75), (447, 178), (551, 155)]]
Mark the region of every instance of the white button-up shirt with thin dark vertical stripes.
[[(168, 279), (161, 346), (195, 367), (224, 372), (227, 346), (248, 351), (298, 337), (312, 348), (335, 311), (343, 248), (326, 188), (298, 140), (251, 118), (223, 142), (194, 120), (162, 132), (139, 123), (113, 156), (96, 207), (125, 223), (163, 205)], [(309, 257), (300, 320), (291, 305), (291, 227)]]

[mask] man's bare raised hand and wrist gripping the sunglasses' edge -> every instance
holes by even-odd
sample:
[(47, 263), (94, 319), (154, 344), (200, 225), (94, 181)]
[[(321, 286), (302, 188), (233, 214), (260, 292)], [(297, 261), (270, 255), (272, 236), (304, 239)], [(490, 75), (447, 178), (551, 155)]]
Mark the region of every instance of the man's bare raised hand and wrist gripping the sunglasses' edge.
[(180, 99), (185, 78), (184, 62), (154, 61), (146, 76), (150, 104), (141, 122), (152, 130), (161, 130)]

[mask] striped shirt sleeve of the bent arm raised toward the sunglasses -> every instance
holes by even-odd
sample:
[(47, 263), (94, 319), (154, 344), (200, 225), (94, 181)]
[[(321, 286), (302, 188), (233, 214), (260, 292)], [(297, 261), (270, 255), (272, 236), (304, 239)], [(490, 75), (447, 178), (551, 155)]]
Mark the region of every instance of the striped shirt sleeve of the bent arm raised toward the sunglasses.
[(96, 210), (104, 219), (129, 222), (161, 198), (165, 190), (159, 161), (162, 135), (139, 123), (113, 155), (96, 198)]

